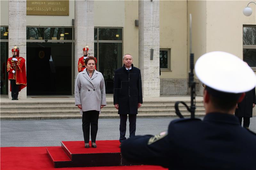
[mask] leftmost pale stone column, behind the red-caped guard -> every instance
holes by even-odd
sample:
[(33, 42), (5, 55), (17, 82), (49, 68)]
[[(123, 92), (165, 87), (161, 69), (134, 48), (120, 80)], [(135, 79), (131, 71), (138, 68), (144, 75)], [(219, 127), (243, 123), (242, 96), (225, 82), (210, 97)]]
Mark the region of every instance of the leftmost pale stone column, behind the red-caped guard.
[[(27, 59), (27, 38), (26, 38), (26, 8), (27, 1), (26, 0), (9, 0), (9, 38), (8, 38), (8, 49), (9, 49), (9, 56), (12, 57), (12, 48), (17, 46), (20, 48), (20, 56)], [(26, 63), (25, 63), (26, 64)], [(10, 81), (8, 81), (8, 95), (11, 99), (11, 92), (10, 92)], [(19, 99), (26, 99), (27, 98), (27, 87), (22, 89), (19, 92)]]

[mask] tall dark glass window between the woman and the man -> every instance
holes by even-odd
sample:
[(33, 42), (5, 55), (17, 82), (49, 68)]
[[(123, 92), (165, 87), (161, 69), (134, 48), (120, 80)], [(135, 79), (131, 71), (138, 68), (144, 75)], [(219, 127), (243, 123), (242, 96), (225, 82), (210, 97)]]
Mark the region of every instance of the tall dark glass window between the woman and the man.
[(105, 80), (107, 94), (113, 94), (115, 70), (122, 67), (123, 28), (94, 28), (94, 57)]

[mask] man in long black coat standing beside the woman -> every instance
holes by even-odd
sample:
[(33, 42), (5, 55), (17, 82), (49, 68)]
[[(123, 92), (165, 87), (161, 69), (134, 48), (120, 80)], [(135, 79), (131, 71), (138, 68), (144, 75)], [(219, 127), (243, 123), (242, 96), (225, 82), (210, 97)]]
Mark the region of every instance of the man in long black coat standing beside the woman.
[(126, 139), (127, 114), (129, 115), (130, 137), (135, 136), (136, 116), (142, 104), (140, 69), (133, 67), (132, 61), (132, 55), (124, 55), (124, 66), (117, 69), (114, 76), (114, 105), (120, 116), (120, 143)]

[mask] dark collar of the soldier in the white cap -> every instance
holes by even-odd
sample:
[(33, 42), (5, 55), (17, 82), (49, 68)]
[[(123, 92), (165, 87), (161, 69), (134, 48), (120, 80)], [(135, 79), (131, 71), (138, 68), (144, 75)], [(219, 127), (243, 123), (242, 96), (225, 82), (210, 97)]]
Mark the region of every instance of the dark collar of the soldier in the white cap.
[(229, 124), (239, 125), (239, 121), (235, 115), (230, 115), (226, 113), (212, 112), (204, 116), (204, 121), (206, 122), (222, 122)]

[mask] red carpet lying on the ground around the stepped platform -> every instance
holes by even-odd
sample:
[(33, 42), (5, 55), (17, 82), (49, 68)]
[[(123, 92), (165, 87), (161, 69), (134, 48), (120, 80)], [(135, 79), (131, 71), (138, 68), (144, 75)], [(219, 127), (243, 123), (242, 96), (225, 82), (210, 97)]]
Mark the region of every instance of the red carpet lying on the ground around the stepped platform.
[(166, 170), (161, 166), (54, 168), (46, 154), (46, 147), (1, 147), (0, 149), (1, 170)]

